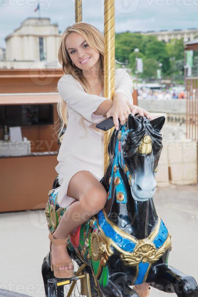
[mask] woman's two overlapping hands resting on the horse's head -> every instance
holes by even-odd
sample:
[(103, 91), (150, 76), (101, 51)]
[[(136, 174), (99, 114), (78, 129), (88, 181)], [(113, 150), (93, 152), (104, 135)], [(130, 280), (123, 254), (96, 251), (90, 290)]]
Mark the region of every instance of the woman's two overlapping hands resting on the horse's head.
[(126, 101), (121, 98), (115, 98), (112, 107), (107, 112), (107, 118), (113, 117), (114, 125), (116, 130), (118, 130), (120, 119), (120, 124), (125, 125), (130, 114), (135, 115), (139, 113), (140, 116), (145, 115), (147, 118), (151, 119), (150, 113), (145, 109), (138, 107), (137, 105), (127, 104)]

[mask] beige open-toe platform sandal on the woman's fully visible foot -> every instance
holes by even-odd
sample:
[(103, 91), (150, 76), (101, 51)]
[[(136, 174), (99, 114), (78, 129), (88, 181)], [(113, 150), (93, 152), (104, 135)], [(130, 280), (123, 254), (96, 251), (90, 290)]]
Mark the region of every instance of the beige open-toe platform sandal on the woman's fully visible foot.
[[(50, 259), (51, 259), (51, 243), (54, 245), (65, 245), (65, 249), (67, 249), (67, 238), (64, 239), (56, 239), (53, 236), (53, 233), (56, 229), (54, 229), (52, 232), (49, 232), (49, 240), (50, 240)], [(51, 260), (51, 271), (54, 271), (54, 276), (60, 279), (67, 279), (69, 277), (74, 276), (74, 267), (73, 269), (68, 269), (68, 270), (58, 270), (61, 266), (74, 266), (73, 262), (71, 259), (63, 259), (61, 261), (56, 262), (54, 265), (52, 265), (52, 260)]]

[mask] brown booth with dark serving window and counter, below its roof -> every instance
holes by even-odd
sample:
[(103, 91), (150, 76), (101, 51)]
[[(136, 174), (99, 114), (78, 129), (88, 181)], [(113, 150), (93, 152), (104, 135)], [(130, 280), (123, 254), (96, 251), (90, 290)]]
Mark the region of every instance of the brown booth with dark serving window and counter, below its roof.
[(45, 208), (57, 176), (58, 99), (58, 93), (0, 94), (0, 212)]

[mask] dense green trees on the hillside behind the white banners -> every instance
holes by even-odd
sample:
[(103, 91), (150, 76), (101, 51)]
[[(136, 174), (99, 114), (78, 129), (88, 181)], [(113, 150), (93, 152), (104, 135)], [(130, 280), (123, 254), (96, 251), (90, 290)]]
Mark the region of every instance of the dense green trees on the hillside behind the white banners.
[[(129, 61), (128, 67), (135, 75), (135, 48), (139, 48), (138, 58), (143, 58), (144, 73), (141, 78), (156, 79), (159, 63), (162, 63), (162, 76), (173, 78), (183, 75), (184, 70), (184, 44), (183, 38), (172, 39), (168, 43), (159, 41), (156, 36), (143, 35), (140, 33), (116, 33), (115, 34), (115, 57), (119, 62)], [(198, 57), (198, 51), (194, 52), (194, 58)], [(194, 66), (194, 72), (197, 68)], [(181, 74), (182, 72), (182, 74)]]

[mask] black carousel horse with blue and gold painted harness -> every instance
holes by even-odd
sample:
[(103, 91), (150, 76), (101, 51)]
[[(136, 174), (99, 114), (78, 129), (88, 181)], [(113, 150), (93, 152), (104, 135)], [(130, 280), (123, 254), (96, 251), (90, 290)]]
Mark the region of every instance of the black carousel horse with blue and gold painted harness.
[[(198, 296), (195, 279), (168, 265), (171, 235), (153, 203), (164, 122), (164, 117), (150, 120), (130, 114), (125, 125), (119, 124), (101, 179), (106, 205), (69, 234), (70, 256), (90, 267), (106, 297), (136, 297), (130, 286), (142, 283), (180, 297)], [(45, 209), (50, 231), (65, 211), (56, 203), (59, 185), (54, 182)]]

